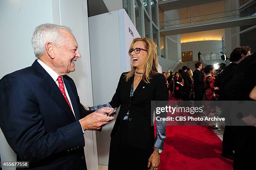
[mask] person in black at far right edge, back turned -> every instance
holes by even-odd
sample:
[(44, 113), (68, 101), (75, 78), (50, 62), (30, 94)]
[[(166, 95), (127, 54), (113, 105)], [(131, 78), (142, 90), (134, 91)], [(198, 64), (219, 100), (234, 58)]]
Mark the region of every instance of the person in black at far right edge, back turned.
[[(251, 90), (256, 85), (256, 53), (246, 57), (234, 70), (233, 78), (225, 86), (225, 94), (228, 100), (246, 101)], [(236, 113), (234, 117), (237, 117)], [(248, 113), (243, 112), (241, 120), (245, 121)], [(246, 122), (246, 121), (245, 121)], [(255, 167), (256, 152), (256, 127), (239, 126), (235, 128), (235, 157), (234, 170), (251, 169)]]

